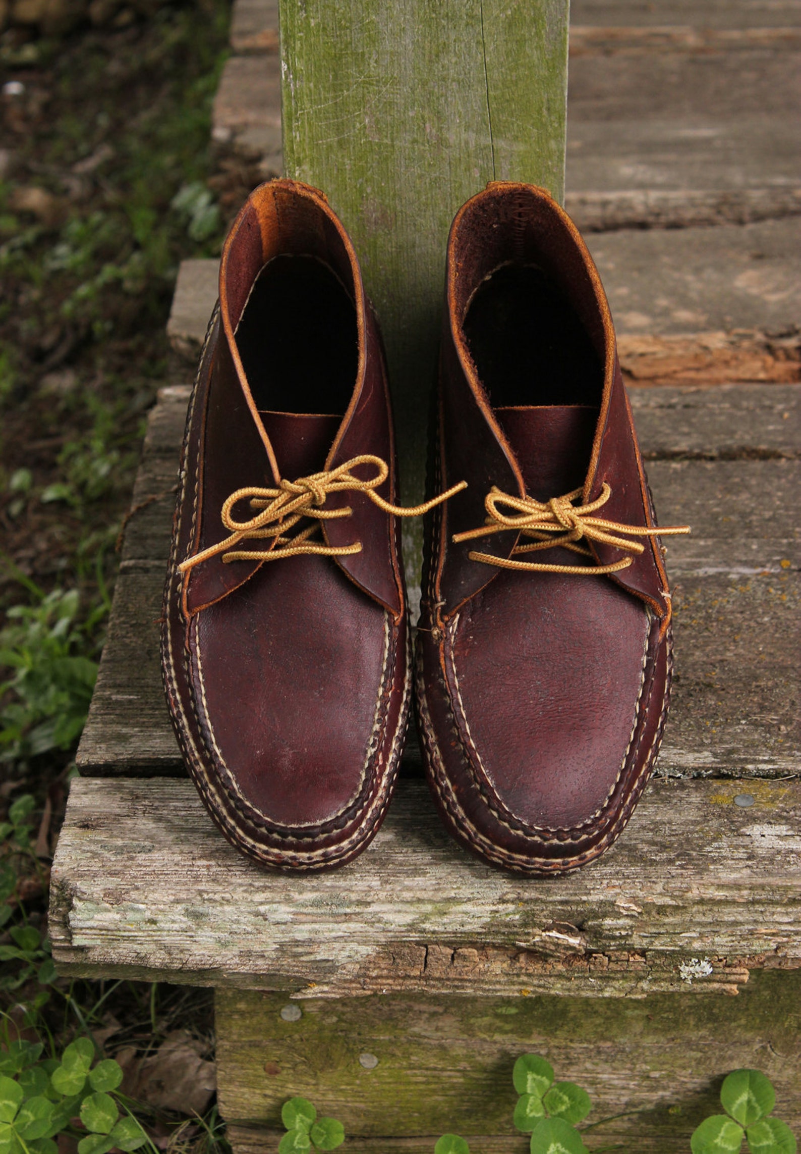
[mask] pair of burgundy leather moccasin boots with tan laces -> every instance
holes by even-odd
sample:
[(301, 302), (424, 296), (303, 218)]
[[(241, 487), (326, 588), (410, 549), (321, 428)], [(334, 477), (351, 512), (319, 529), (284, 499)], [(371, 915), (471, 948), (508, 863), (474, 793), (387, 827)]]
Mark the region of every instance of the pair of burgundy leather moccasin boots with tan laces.
[(416, 696), (454, 835), (561, 872), (648, 779), (667, 578), (604, 291), (542, 189), (492, 183), (453, 223), (433, 458), (430, 500), (399, 507), (353, 245), (320, 192), (263, 185), (189, 404), (163, 666), (209, 812), (265, 865), (343, 864), (386, 812), (411, 687), (402, 516), (429, 517)]

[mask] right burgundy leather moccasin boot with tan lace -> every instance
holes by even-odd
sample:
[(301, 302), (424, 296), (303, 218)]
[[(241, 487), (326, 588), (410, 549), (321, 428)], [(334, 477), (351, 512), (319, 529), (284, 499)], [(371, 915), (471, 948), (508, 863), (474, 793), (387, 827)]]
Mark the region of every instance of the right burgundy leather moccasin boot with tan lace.
[(461, 842), (561, 874), (614, 841), (648, 780), (667, 577), (606, 298), (547, 193), (496, 182), (463, 205), (446, 304), (434, 475), (468, 487), (428, 526), (424, 758)]

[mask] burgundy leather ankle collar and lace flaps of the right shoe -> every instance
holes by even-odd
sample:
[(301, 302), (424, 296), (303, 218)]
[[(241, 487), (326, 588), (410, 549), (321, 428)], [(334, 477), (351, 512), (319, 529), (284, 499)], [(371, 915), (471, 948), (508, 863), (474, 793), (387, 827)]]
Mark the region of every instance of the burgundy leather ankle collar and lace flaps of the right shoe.
[[(604, 366), (604, 385), (592, 450), (582, 478), (584, 500), (594, 501), (606, 481), (612, 489), (604, 516), (629, 525), (653, 525), (634, 421), (620, 374), (614, 328), (592, 257), (567, 213), (529, 185), (493, 182), (458, 212), (447, 250), (447, 301), (440, 353), (440, 484), (468, 479), (468, 488), (443, 509), (440, 574), (437, 594), (444, 616), (497, 576), (470, 561), (473, 542), (454, 544), (453, 534), (475, 529), (485, 517), (491, 485), (523, 496), (521, 467), (490, 405), (473, 362), (462, 322), (482, 280), (504, 262), (536, 260), (574, 302)], [(558, 494), (551, 494), (557, 496)], [(482, 550), (508, 557), (519, 541), (509, 531), (482, 541)], [(619, 552), (592, 546), (602, 563)], [(667, 578), (656, 541), (614, 578), (640, 595), (660, 619), (670, 617)]]

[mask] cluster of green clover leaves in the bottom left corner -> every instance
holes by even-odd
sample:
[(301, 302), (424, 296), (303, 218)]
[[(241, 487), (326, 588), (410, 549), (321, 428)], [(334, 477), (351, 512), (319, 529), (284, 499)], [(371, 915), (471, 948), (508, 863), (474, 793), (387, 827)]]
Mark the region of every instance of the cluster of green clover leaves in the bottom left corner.
[(60, 1062), (41, 1059), (43, 1049), (41, 1042), (17, 1040), (0, 1052), (0, 1154), (56, 1154), (53, 1139), (61, 1133), (78, 1138), (78, 1154), (136, 1151), (149, 1142), (115, 1093), (119, 1063), (93, 1065), (88, 1037), (71, 1042)]

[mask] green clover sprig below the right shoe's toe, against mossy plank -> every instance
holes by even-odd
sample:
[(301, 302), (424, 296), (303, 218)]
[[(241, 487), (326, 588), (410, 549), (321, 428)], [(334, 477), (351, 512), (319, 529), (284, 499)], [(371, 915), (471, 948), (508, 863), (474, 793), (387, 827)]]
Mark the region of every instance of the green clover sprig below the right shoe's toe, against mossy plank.
[(531, 1134), (531, 1154), (584, 1154), (585, 1146), (573, 1123), (590, 1112), (589, 1094), (574, 1082), (553, 1080), (553, 1067), (536, 1054), (523, 1054), (514, 1064), (512, 1080), (520, 1094), (514, 1124)]

